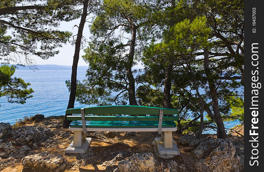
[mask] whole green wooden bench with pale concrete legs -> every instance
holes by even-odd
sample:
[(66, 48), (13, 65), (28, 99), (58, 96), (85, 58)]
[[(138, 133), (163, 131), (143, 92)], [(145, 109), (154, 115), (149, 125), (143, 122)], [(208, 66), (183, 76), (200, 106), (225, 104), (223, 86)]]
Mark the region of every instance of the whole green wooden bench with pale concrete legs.
[[(179, 112), (175, 109), (116, 105), (67, 109), (66, 114), (81, 114), (80, 116), (67, 116), (67, 120), (73, 121), (70, 124), (69, 130), (74, 131), (74, 138), (73, 142), (71, 142), (71, 144), (66, 149), (66, 153), (85, 153), (87, 151), (90, 143), (92, 142), (91, 138), (86, 138), (87, 131), (158, 131), (159, 134), (161, 134), (161, 137), (157, 139), (155, 138), (155, 140), (157, 140), (159, 144), (163, 144), (162, 146), (165, 150), (173, 149), (173, 146), (177, 148), (177, 146), (175, 146), (175, 142), (172, 139), (172, 131), (177, 130), (175, 121), (179, 119)], [(99, 116), (86, 116), (90, 114)], [(162, 151), (159, 151), (159, 153), (162, 153)]]

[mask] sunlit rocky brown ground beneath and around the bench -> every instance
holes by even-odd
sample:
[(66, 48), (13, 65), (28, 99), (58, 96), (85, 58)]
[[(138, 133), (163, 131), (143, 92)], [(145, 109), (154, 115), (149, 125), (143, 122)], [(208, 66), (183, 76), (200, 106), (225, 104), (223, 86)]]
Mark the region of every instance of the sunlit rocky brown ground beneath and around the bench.
[[(106, 171), (106, 172), (239, 172), (243, 171), (241, 136), (216, 139), (203, 134), (173, 133), (180, 155), (155, 155), (156, 132), (91, 132), (93, 142), (85, 154), (65, 154), (73, 132), (62, 128), (63, 116), (38, 114), (23, 126), (0, 123), (0, 171)], [(119, 142), (119, 143), (118, 143)], [(123, 144), (124, 143), (124, 144)]]

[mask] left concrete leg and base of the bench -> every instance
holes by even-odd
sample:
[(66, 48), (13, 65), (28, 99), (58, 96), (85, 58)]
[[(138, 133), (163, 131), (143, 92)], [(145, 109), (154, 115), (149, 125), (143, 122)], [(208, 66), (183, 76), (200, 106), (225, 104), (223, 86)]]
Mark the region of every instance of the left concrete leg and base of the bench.
[(86, 134), (83, 131), (74, 131), (73, 141), (66, 148), (65, 153), (85, 153), (91, 142), (92, 138), (86, 138)]

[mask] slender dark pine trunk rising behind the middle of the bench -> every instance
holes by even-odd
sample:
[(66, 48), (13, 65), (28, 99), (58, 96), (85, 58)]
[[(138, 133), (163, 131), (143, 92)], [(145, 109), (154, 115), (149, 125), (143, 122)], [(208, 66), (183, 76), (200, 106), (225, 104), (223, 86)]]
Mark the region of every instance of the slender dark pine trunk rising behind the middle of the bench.
[(132, 65), (134, 61), (134, 52), (135, 52), (135, 43), (136, 43), (136, 26), (132, 26), (132, 35), (131, 35), (131, 44), (128, 55), (128, 67), (126, 69), (126, 75), (128, 77), (128, 99), (129, 105), (138, 105), (136, 102), (136, 91), (135, 91), (135, 79), (132, 73)]

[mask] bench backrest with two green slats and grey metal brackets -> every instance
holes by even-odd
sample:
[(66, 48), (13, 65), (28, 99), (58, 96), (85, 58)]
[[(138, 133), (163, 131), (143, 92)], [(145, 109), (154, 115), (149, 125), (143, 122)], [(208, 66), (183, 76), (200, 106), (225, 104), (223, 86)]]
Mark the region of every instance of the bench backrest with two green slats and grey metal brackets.
[[(81, 116), (67, 116), (67, 120), (82, 120), (83, 132), (86, 133), (85, 121), (159, 121), (158, 133), (161, 134), (163, 121), (177, 121), (179, 112), (176, 109), (147, 106), (97, 106), (67, 109), (66, 114), (81, 114)], [(85, 116), (85, 114), (100, 114), (100, 116)], [(159, 115), (159, 116), (101, 116), (114, 115)], [(176, 116), (163, 116), (176, 115)]]

